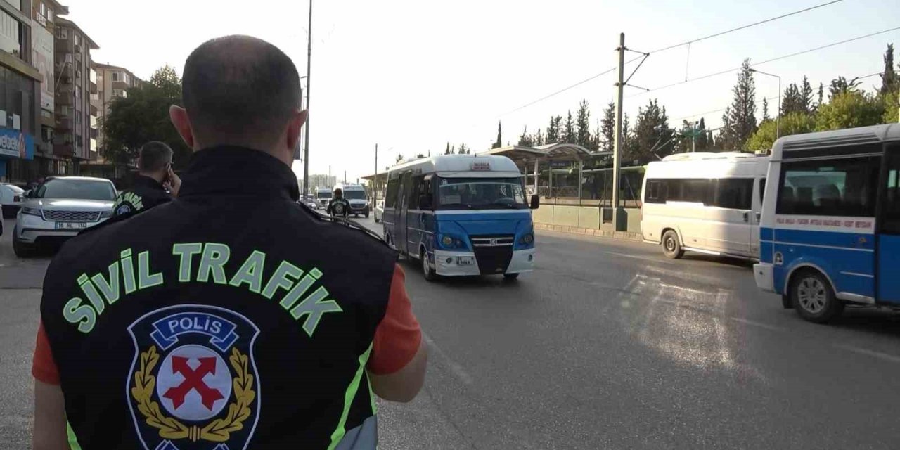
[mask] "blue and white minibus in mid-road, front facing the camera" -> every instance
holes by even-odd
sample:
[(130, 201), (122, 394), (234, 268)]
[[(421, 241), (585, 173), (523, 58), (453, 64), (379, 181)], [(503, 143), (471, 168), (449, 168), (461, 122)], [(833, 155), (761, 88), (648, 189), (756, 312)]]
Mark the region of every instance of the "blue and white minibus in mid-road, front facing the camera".
[(442, 155), (394, 166), (384, 197), (384, 238), (437, 275), (529, 272), (535, 233), (524, 179), (509, 157)]

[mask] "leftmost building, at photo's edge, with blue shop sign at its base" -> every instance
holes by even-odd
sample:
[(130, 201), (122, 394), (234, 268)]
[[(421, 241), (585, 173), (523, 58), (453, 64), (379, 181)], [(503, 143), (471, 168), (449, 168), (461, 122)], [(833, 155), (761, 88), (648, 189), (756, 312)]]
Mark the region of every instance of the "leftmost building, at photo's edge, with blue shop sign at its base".
[[(38, 172), (44, 75), (32, 53), (32, 31), (42, 28), (32, 19), (32, 1), (0, 0), (0, 181), (6, 182), (30, 181)], [(60, 11), (57, 5), (49, 8), (50, 21)], [(47, 11), (45, 5), (44, 21)]]

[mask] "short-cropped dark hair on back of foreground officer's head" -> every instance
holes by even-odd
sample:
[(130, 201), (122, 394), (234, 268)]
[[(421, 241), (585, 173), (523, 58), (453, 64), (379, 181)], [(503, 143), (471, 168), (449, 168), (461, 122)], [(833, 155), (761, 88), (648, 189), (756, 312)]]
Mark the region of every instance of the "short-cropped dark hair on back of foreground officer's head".
[(203, 145), (276, 145), (300, 109), (297, 67), (265, 40), (207, 40), (184, 63), (184, 110)]

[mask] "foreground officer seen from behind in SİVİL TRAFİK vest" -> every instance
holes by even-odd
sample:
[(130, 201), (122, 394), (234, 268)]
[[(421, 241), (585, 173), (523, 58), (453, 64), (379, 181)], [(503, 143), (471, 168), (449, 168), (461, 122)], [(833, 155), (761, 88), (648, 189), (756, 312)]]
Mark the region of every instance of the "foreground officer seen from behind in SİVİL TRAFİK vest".
[(371, 392), (410, 401), (427, 349), (395, 252), (296, 203), (296, 67), (210, 40), (182, 96), (170, 115), (195, 151), (177, 199), (48, 268), (34, 448), (68, 448), (68, 430), (85, 450), (374, 449)]

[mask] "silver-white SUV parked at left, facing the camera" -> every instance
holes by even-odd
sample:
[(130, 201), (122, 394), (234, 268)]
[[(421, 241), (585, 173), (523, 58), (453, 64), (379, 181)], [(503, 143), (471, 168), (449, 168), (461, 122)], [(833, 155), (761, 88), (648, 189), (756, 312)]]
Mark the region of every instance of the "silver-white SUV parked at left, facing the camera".
[(17, 257), (29, 257), (41, 242), (60, 242), (112, 215), (115, 185), (104, 178), (51, 177), (28, 192), (13, 229)]

